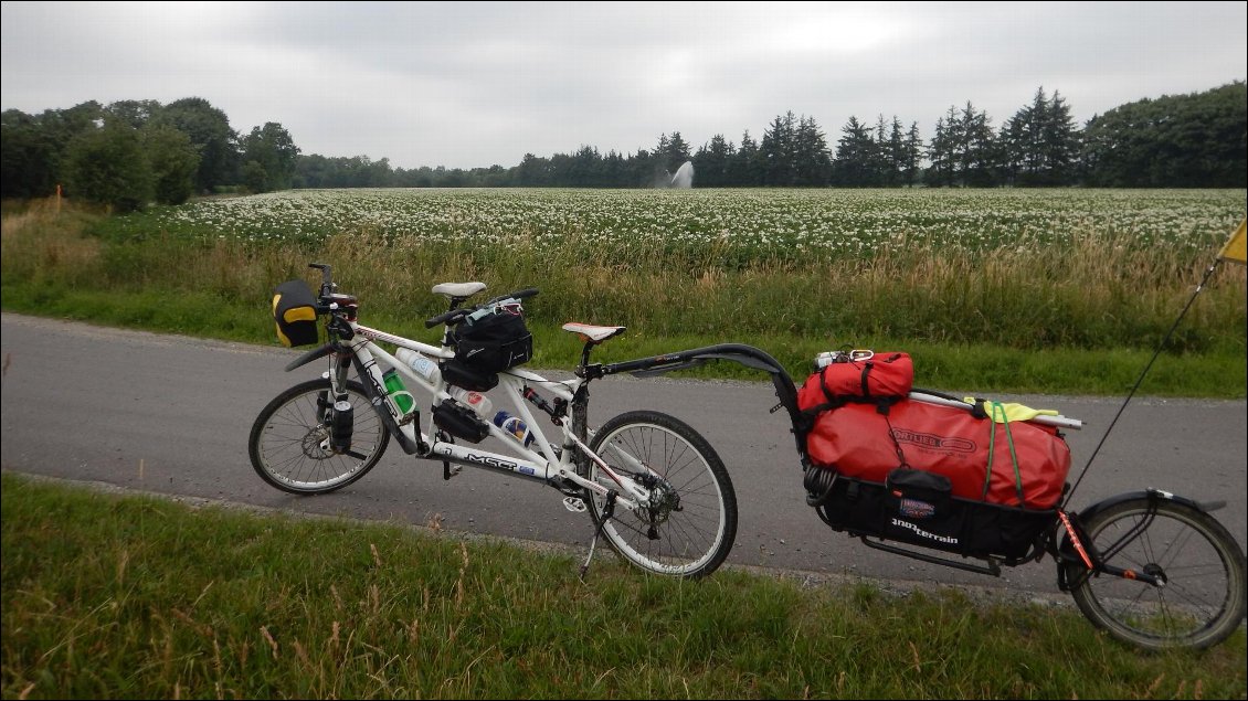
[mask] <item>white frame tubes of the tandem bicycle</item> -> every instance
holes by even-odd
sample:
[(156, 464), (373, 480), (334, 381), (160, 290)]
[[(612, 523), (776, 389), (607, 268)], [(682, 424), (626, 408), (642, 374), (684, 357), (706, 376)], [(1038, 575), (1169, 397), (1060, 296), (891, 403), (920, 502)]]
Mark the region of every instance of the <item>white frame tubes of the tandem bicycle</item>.
[[(376, 410), (388, 412), (398, 424), (399, 430), (403, 432), (403, 435), (408, 439), (409, 444), (427, 444), (429, 447), (429, 453), (419, 454), (419, 458), (446, 460), (461, 465), (503, 471), (555, 486), (565, 483), (573, 483), (600, 496), (608, 496), (613, 489), (577, 474), (572, 455), (573, 450), (580, 450), (588, 459), (594, 462), (604, 475), (619, 485), (619, 489), (614, 490), (618, 505), (628, 509), (636, 509), (649, 503), (649, 489), (628, 475), (612, 469), (605, 460), (599, 458), (573, 433), (570, 413), (568, 417), (564, 417), (564, 420), (560, 424), (560, 428), (563, 429), (563, 443), (560, 449), (555, 450), (545, 434), (538, 428), (537, 417), (529, 409), (529, 403), (523, 395), (523, 390), (527, 385), (537, 385), (552, 392), (555, 397), (562, 398), (570, 405), (577, 390), (584, 383), (589, 382), (588, 379), (578, 377), (569, 380), (552, 380), (537, 373), (518, 368), (499, 373), (498, 387), (508, 397), (515, 410), (519, 412), (519, 417), (525, 424), (528, 424), (529, 433), (534, 439), (533, 443), (535, 449), (533, 447), (524, 445), (522, 439), (504, 432), (492, 422), (485, 422), (489, 425), (489, 434), (503, 440), (509, 449), (519, 457), (492, 453), (489, 450), (480, 450), (468, 445), (438, 440), (438, 432), (433, 425), (432, 412), (426, 412), (427, 420), (429, 422), (428, 432), (422, 430), (419, 425), (416, 425), (418, 422), (413, 420), (419, 417), (419, 412), (413, 409), (404, 415), (394, 398), (384, 392), (386, 384), (382, 379), (384, 370), (379, 367), (381, 364), (393, 367), (403, 377), (409, 392), (412, 387), (421, 387), (424, 389), (432, 397), (431, 408), (452, 399), (451, 394), (447, 392), (448, 383), (446, 379), (439, 377), (437, 382), (429, 382), (427, 378), (416, 373), (406, 363), (401, 362), (384, 348), (378, 346), (378, 341), (392, 343), (409, 350), (416, 350), (417, 353), (421, 353), (433, 360), (453, 358), (454, 349), (446, 346), (431, 346), (428, 343), (422, 343), (402, 336), (386, 333), (356, 322), (351, 322), (351, 328), (354, 331), (354, 338), (339, 342), (341, 346), (351, 349), (351, 354), (359, 360), (357, 368), (363, 368), (363, 372), (367, 372), (371, 375), (373, 387), (382, 393), (384, 402), (376, 407)], [(332, 359), (331, 363), (333, 363)], [(329, 372), (328, 375), (333, 378), (334, 373)], [(363, 382), (366, 378), (359, 379)], [(414, 400), (416, 397), (413, 395), (412, 399)], [(374, 403), (377, 403), (377, 399), (374, 399)], [(417, 407), (418, 405), (419, 404), (417, 403)], [(654, 474), (653, 470), (645, 467), (645, 464), (629, 455), (625, 450), (617, 449), (615, 453), (635, 473)]]

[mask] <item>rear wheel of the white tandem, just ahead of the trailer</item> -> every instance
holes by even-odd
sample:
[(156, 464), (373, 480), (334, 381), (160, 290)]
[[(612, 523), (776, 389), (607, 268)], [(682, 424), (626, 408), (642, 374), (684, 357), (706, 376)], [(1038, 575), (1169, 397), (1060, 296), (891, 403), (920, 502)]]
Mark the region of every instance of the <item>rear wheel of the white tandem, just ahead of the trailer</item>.
[[(590, 515), (613, 550), (661, 575), (699, 578), (715, 571), (736, 538), (736, 494), (724, 462), (701, 435), (658, 412), (629, 412), (607, 422), (589, 445), (617, 473), (645, 485), (651, 498), (603, 520), (605, 498)], [(592, 479), (618, 489), (593, 462)]]

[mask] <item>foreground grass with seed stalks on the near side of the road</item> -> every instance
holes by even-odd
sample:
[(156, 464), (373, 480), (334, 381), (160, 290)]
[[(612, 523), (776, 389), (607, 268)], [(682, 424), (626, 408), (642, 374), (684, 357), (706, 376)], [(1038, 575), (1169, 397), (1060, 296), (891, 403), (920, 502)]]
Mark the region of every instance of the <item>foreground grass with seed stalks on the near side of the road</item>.
[(1072, 609), (953, 589), (688, 583), (610, 556), (583, 584), (579, 558), (500, 541), (0, 479), (5, 699), (1246, 694), (1242, 630), (1146, 655)]

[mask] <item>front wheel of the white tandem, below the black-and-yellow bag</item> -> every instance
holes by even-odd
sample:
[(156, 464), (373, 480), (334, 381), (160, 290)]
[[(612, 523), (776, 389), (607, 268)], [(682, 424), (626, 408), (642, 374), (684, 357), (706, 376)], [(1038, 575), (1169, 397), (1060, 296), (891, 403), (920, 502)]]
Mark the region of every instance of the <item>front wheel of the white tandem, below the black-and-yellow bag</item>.
[(364, 476), (381, 460), (389, 430), (373, 410), (364, 387), (347, 383), (354, 407), (349, 454), (322, 448), (328, 429), (317, 419), (317, 395), (329, 390), (327, 378), (282, 392), (256, 417), (247, 439), (251, 467), (266, 483), (292, 494), (327, 494)]

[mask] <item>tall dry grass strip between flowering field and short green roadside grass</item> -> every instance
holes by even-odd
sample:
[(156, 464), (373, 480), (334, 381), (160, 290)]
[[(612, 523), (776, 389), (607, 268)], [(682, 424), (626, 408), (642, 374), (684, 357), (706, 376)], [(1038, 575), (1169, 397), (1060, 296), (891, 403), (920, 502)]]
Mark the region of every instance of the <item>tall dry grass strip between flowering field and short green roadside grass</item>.
[[(6, 217), (5, 307), (91, 318), (110, 299), (131, 298), (139, 302), (122, 323), (263, 341), (271, 337), (272, 287), (292, 277), (314, 281), (305, 266), (321, 261), (334, 266), (342, 291), (359, 297), (364, 323), (417, 337), (428, 334), (423, 318), (444, 311), (432, 284), (480, 279), (495, 292), (542, 289), (527, 306), (539, 339), (583, 321), (628, 326), (630, 348), (671, 350), (661, 347), (670, 339), (745, 342), (790, 367), (842, 344), (920, 354), (940, 347), (946, 357), (957, 354), (947, 348), (963, 348), (982, 358), (1002, 350), (1143, 358), (1209, 262), (1077, 222), (1061, 244), (1023, 234), (1012, 246), (971, 249), (916, 237), (869, 257), (743, 259), (726, 241), (673, 251), (656, 238), (625, 239), (604, 252), (600, 242), (580, 241), (575, 228), (550, 246), (523, 226), (502, 244), (472, 237), (431, 243), (367, 223), (302, 243), (158, 231), (125, 241), (84, 234), (110, 221), (40, 208)], [(86, 291), (97, 294), (80, 294)], [(1242, 359), (1246, 291), (1242, 267), (1221, 267), (1167, 350)], [(564, 357), (570, 360), (574, 349)], [(1242, 362), (1227, 372), (1218, 384), (1244, 384)]]

